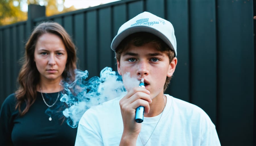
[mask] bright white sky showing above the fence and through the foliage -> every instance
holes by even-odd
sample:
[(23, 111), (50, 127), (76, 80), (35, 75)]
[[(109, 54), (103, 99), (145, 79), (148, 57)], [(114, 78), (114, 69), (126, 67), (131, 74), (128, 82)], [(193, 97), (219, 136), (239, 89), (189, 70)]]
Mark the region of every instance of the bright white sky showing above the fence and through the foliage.
[[(21, 11), (24, 11), (24, 12), (28, 11), (28, 4), (26, 3), (26, 1), (27, 0), (21, 1), (21, 6), (22, 6)], [(85, 8), (94, 7), (100, 4), (111, 3), (114, 1), (119, 1), (119, 0), (65, 0), (64, 6), (69, 8), (72, 5), (74, 5), (76, 9), (85, 9)], [(63, 0), (58, 0), (57, 2), (62, 4)], [(14, 1), (13, 4), (18, 5), (18, 2)], [(39, 5), (47, 5), (47, 3), (44, 0), (39, 0)], [(59, 11), (62, 11), (63, 7), (60, 6), (58, 9)]]

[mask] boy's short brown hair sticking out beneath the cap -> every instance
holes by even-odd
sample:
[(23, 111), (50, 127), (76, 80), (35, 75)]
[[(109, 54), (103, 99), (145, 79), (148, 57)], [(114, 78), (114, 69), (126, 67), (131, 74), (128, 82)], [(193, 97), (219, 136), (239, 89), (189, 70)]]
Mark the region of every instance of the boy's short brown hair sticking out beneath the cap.
[[(145, 45), (146, 43), (154, 43), (156, 45), (156, 49), (166, 53), (169, 56), (169, 62), (172, 62), (172, 60), (174, 59), (175, 53), (173, 49), (171, 49), (166, 43), (164, 43), (162, 39), (148, 32), (137, 32), (125, 37), (125, 39), (123, 39), (121, 43), (117, 46), (117, 49), (115, 51), (115, 58), (120, 61), (121, 53), (129, 49), (130, 44), (139, 47)], [(166, 77), (164, 91), (167, 89), (171, 78), (172, 77)]]

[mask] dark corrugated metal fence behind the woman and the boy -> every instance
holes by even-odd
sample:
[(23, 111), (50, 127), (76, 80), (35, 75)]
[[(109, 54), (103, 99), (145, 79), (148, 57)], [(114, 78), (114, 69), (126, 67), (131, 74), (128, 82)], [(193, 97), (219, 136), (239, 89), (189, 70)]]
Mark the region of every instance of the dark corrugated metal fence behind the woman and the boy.
[[(78, 47), (89, 77), (116, 70), (110, 44), (118, 28), (149, 11), (172, 22), (178, 64), (166, 91), (207, 112), (223, 146), (255, 145), (255, 49), (252, 0), (122, 0), (45, 17), (30, 5), (28, 21), (0, 27), (0, 104), (16, 90), (24, 44), (42, 21), (60, 23)], [(38, 11), (40, 10), (40, 11)]]

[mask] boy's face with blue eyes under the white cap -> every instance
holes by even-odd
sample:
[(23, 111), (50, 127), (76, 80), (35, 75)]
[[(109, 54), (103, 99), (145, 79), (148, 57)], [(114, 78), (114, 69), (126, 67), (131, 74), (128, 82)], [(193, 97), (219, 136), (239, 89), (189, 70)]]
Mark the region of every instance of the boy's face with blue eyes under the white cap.
[[(140, 47), (129, 45), (117, 61), (117, 70), (122, 77), (126, 72), (130, 72), (132, 78), (144, 78), (145, 88), (150, 91), (150, 97), (153, 99), (164, 93), (166, 77), (172, 76), (176, 64), (176, 57), (169, 62), (166, 53), (158, 51), (153, 43), (147, 43)], [(125, 81), (124, 86), (126, 88)], [(127, 89), (128, 92), (129, 90)]]

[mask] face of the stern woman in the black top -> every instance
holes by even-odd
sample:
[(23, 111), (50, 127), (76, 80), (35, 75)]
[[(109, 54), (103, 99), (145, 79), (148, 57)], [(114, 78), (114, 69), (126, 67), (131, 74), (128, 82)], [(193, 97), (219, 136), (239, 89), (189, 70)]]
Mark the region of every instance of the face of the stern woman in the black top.
[(34, 61), (40, 73), (40, 80), (60, 82), (67, 57), (67, 50), (59, 36), (50, 33), (40, 36), (36, 42), (34, 53)]

